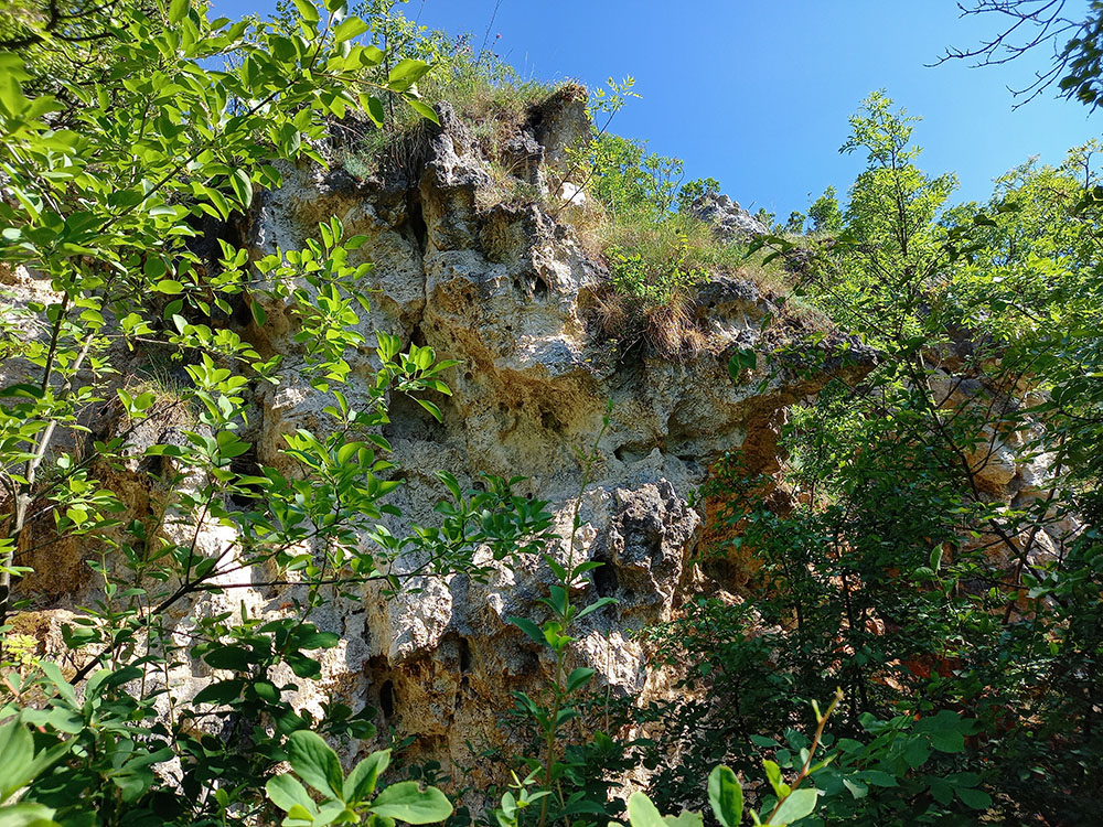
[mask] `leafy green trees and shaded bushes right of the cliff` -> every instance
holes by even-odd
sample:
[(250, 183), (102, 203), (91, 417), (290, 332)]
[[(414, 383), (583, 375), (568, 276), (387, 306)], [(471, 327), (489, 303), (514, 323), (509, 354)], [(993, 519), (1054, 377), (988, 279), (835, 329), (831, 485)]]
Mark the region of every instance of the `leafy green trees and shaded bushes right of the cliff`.
[[(846, 737), (816, 776), (828, 823), (1090, 820), (1075, 802), (1100, 749), (1079, 670), (1103, 645), (1091, 148), (947, 208), (952, 179), (915, 165), (913, 125), (867, 99), (844, 150), (868, 168), (845, 211), (833, 193), (817, 202), (796, 292), (876, 358), (789, 410), (778, 477), (731, 457), (706, 488), (731, 534), (704, 565), (747, 602), (703, 600), (654, 632), (707, 692), (665, 717), (678, 745), (656, 748), (655, 787), (690, 801), (708, 762), (746, 772), (742, 739), (769, 749), (760, 733), (794, 702), (842, 685)], [(831, 358), (789, 356), (814, 373)], [(1008, 447), (1020, 468), (1052, 459), (1015, 497), (989, 475)], [(782, 766), (806, 747), (786, 742)], [(1063, 792), (1028, 781), (1042, 776)]]

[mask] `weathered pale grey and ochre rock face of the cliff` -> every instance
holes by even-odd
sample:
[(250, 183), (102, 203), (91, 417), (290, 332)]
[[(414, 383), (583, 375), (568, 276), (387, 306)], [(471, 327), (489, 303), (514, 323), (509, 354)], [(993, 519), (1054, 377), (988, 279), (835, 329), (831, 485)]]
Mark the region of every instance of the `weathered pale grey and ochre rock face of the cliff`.
[[(529, 119), (507, 147), (524, 161), (520, 175), (543, 180), (539, 165), (563, 154), (579, 130), (579, 111), (585, 115), (585, 107), (568, 95)], [(418, 180), (384, 183), (341, 170), (287, 169), (283, 186), (258, 197), (244, 243), (255, 256), (277, 245), (296, 249), (331, 216), (347, 235), (370, 237), (351, 254), (352, 264), (374, 262), (363, 284), (372, 310), (360, 332), (374, 344), (374, 332), (387, 331), (461, 362), (443, 377), (454, 395), (433, 398), (443, 423), (401, 395), (390, 398), (384, 436), (406, 481), (393, 502), (410, 519), (433, 523), (432, 503), (446, 494), (433, 472), (445, 469), (464, 487), (483, 473), (526, 476), (520, 493), (550, 501), (564, 537), (577, 509), (574, 562), (604, 563), (590, 574), (587, 592), (618, 602), (582, 622), (575, 662), (596, 669), (614, 694), (660, 691), (646, 686), (645, 653), (631, 633), (670, 619), (682, 600), (687, 558), (703, 534), (690, 492), (711, 462), (741, 445), (769, 468), (784, 406), (815, 393), (826, 376), (780, 369), (732, 382), (729, 352), (759, 346), (761, 320), (772, 311), (754, 284), (737, 279), (713, 282), (698, 297), (707, 351), (684, 359), (622, 357), (592, 333), (587, 316), (604, 278), (601, 265), (569, 226), (537, 205), (480, 208), (476, 195), (490, 183), (486, 160), (451, 109), (442, 106), (439, 115), (442, 126), (431, 133)], [(765, 232), (726, 197), (702, 210), (725, 233)], [(293, 356), (301, 345), (293, 341), (289, 308), (270, 303), (265, 311), (264, 327), (246, 321), (238, 330), (261, 352)], [(373, 358), (371, 346), (351, 358), (352, 402), (372, 380)], [(583, 486), (572, 449), (593, 445), (607, 400), (611, 423), (597, 444), (595, 479)], [(258, 462), (280, 466), (285, 434), (298, 428), (324, 433), (330, 426), (322, 409), (330, 404), (293, 376), (258, 387), (243, 437), (256, 444)], [(171, 440), (181, 427), (170, 418), (149, 432), (139, 429), (129, 437), (135, 453), (143, 442)], [(130, 491), (135, 513), (157, 496), (126, 480), (117, 487)], [(170, 514), (162, 530), (172, 536), (191, 527), (173, 524)], [(204, 529), (197, 549), (217, 555), (232, 539), (227, 531)], [(564, 560), (568, 552), (565, 544), (554, 549)], [(232, 591), (179, 604), (167, 620), (185, 643), (201, 613), (236, 612), (244, 604), (256, 616), (279, 616), (295, 589), (250, 586), (263, 579), (261, 572), (238, 572)], [(415, 758), (469, 764), (469, 743), (476, 751), (502, 744), (495, 716), (512, 706), (510, 691), (534, 688), (550, 669), (546, 655), (507, 621), (540, 620), (537, 601), (549, 580), (547, 567), (528, 557), (496, 566), (486, 582), (415, 579), (414, 591), (392, 600), (371, 588), (360, 600), (339, 600), (313, 620), (338, 633), (341, 644), (324, 653), (322, 679), (304, 687), (296, 704), (315, 713), (331, 698), (353, 709), (371, 704), (381, 710), (381, 731), (418, 735)], [(54, 589), (50, 602), (79, 603), (88, 597), (83, 589)], [(211, 679), (200, 663), (170, 678), (184, 697)], [(354, 744), (346, 758), (370, 747)]]

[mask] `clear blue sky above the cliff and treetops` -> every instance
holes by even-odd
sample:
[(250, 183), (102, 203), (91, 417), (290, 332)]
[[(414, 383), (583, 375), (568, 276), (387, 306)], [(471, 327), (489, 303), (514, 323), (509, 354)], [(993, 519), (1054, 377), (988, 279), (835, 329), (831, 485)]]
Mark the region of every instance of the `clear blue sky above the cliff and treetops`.
[[(267, 14), (271, 0), (214, 0), (228, 17)], [(497, 13), (491, 23), (495, 4)], [(1071, 0), (1075, 11), (1086, 0)], [(745, 206), (780, 218), (828, 184), (840, 192), (864, 159), (838, 154), (847, 117), (886, 88), (923, 122), (921, 165), (954, 171), (959, 198), (984, 198), (993, 178), (1030, 155), (1060, 162), (1095, 137), (1103, 112), (1052, 93), (1017, 110), (1051, 52), (1003, 67), (955, 61), (946, 45), (992, 34), (995, 19), (959, 19), (953, 0), (409, 0), (408, 17), (452, 34), (490, 28), (490, 43), (524, 75), (588, 86), (633, 75), (633, 100), (610, 127), (711, 175)], [(501, 39), (495, 39), (501, 34)]]

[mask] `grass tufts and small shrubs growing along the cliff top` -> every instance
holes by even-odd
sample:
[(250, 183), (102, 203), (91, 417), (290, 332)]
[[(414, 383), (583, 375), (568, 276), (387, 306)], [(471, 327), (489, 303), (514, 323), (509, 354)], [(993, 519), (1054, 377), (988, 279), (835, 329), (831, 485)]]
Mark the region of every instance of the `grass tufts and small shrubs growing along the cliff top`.
[[(663, 175), (681, 171), (681, 161), (649, 155), (641, 142), (606, 136), (590, 147), (576, 148), (570, 169), (545, 170), (549, 191), (514, 174), (504, 158), (506, 141), (555, 95), (577, 88), (585, 96), (586, 89), (574, 82), (524, 78), (492, 52), (474, 52), (470, 42), (469, 37), (450, 41), (439, 33), (419, 42), (432, 52), (426, 57), (435, 64), (419, 83), (421, 97), (448, 101), (486, 159), (491, 185), (478, 193), (479, 207), (539, 204), (575, 229), (591, 258), (607, 265), (609, 281), (593, 291), (592, 302), (602, 335), (628, 345), (645, 341), (667, 355), (698, 353), (710, 344), (695, 313), (703, 283), (727, 276), (754, 283), (767, 298), (788, 294), (791, 276), (781, 259), (767, 262), (765, 254), (748, 257), (745, 245), (725, 241), (700, 219), (670, 208), (677, 185), (670, 189), (670, 178)], [(408, 107), (389, 104), (385, 101), (385, 128), (364, 130), (344, 150), (340, 163), (352, 174), (370, 178), (397, 171), (407, 180), (419, 175), (428, 126)], [(610, 141), (618, 152), (609, 158), (597, 151), (599, 140)], [(568, 178), (582, 187), (581, 203), (559, 197)], [(664, 194), (655, 195), (660, 192)], [(816, 329), (823, 326), (823, 320), (799, 302), (789, 302), (785, 314), (802, 326), (808, 321)]]

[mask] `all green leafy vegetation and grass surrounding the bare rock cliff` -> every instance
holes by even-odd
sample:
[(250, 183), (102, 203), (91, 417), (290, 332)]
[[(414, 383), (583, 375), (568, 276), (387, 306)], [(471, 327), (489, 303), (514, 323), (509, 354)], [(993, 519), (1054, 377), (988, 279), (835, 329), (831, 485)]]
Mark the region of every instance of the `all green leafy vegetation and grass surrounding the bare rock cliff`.
[[(389, 4), (361, 19), (334, 0), (296, 0), (274, 23), (213, 23), (189, 0), (119, 3), (111, 17), (63, 4), (58, 18), (57, 8), (0, 23), (0, 275), (30, 268), (53, 291), (0, 316), (0, 357), (20, 368), (0, 388), (0, 821), (1097, 818), (1103, 190), (1093, 147), (1059, 169), (1014, 171), (989, 203), (951, 205), (953, 178), (918, 165), (913, 119), (874, 94), (843, 148), (867, 161), (845, 203), (825, 193), (808, 232), (796, 216), (784, 232), (731, 241), (692, 214), (716, 182), (681, 185), (679, 162), (609, 131), (629, 85), (591, 93), (590, 140), (542, 187), (503, 165), (503, 148), (534, 107), (578, 87), (520, 78)], [(578, 554), (577, 509), (556, 538), (547, 504), (516, 495), (517, 480), (463, 491), (441, 472), (437, 523), (404, 537), (381, 527), (400, 484), (378, 436), (388, 394), (439, 418), (424, 397), (448, 391), (451, 363), (381, 331), (367, 398), (350, 405), (346, 354), (367, 346), (368, 266), (347, 254), (365, 238), (332, 218), (304, 249), (257, 261), (225, 244), (217, 273), (188, 246), (204, 216), (228, 221), (276, 185), (276, 161), (324, 162), (324, 152), (364, 178), (416, 174), (424, 119), (437, 117), (425, 101), (438, 99), (499, 164), (492, 202), (537, 204), (603, 257), (606, 335), (707, 351), (689, 312), (695, 290), (730, 275), (872, 354), (861, 369), (834, 369), (773, 423), (779, 468), (733, 450), (713, 470), (702, 492), (710, 534), (692, 561), (706, 592), (671, 623), (638, 631), (653, 667), (679, 681), (673, 700), (611, 697), (574, 666), (579, 620), (611, 600), (585, 597), (601, 563)], [(565, 182), (585, 201), (565, 196)], [(261, 298), (291, 308), (301, 364), (218, 323), (246, 309), (263, 327)], [(807, 346), (824, 335), (792, 343), (799, 358), (783, 343), (737, 354), (732, 376), (780, 366), (822, 376), (817, 358), (842, 358)], [(117, 383), (120, 354), (135, 346), (173, 355), (173, 370)], [(292, 369), (329, 395), (332, 427), (288, 437), (280, 460), (295, 473), (243, 464), (248, 384)], [(58, 443), (87, 433), (99, 406), (125, 436)], [(127, 438), (167, 409), (179, 414), (172, 438), (133, 455)], [(578, 453), (578, 503), (601, 437)], [(124, 519), (121, 469), (161, 493), (156, 514)], [(84, 565), (99, 594), (74, 610), (56, 651), (21, 611), (34, 606), (21, 578), (42, 526), (51, 543), (92, 549)], [(205, 526), (234, 539), (201, 554)], [(453, 808), (435, 786), (458, 794), (464, 767), (442, 778), (439, 766), (405, 764), (401, 742), (346, 773), (332, 745), (373, 739), (376, 710), (333, 702), (312, 716), (290, 700), (297, 681), (321, 674), (318, 653), (338, 644), (315, 625), (321, 610), (360, 599), (367, 583), (399, 592), (401, 554), (439, 576), (489, 577), (476, 551), (547, 566), (546, 616), (511, 622), (554, 665), (539, 691), (514, 696), (502, 722), (512, 752), (472, 756), (512, 777), (476, 791), (493, 793), (485, 812)], [(265, 620), (243, 606), (175, 634), (167, 612), (224, 592), (217, 578), (246, 568), (268, 578), (256, 586), (299, 589), (286, 613)], [(173, 669), (196, 662), (217, 678), (174, 698)], [(646, 794), (625, 795), (629, 780)]]

